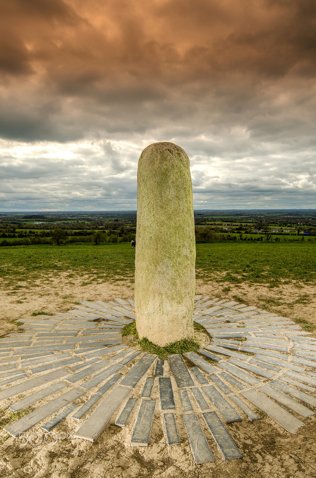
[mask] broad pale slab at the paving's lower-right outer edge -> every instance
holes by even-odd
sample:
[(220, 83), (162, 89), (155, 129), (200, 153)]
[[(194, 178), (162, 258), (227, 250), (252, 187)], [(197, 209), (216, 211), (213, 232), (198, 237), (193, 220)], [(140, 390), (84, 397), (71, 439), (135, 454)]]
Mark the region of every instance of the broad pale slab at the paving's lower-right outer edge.
[(291, 413), (286, 412), (284, 408), (274, 403), (258, 390), (245, 390), (241, 394), (290, 433), (295, 434), (297, 429), (304, 425), (303, 422), (295, 418)]

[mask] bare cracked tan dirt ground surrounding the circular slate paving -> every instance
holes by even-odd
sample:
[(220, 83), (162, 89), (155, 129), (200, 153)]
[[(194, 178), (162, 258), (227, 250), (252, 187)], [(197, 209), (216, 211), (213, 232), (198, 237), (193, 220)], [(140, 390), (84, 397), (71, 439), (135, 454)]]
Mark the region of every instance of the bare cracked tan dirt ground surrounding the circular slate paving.
[[(134, 296), (130, 281), (81, 286), (82, 278), (69, 282), (65, 276), (61, 274), (59, 278), (49, 281), (39, 280), (37, 286), (30, 289), (0, 290), (0, 335), (16, 331), (17, 327), (11, 321), (30, 317), (32, 312), (65, 312), (74, 301)], [(228, 286), (218, 282), (197, 281), (196, 292), (227, 299), (238, 296), (245, 304), (265, 307), (294, 319), (305, 319), (316, 326), (315, 286), (291, 281), (273, 289), (263, 285), (242, 284), (230, 285), (229, 291), (223, 290)], [(149, 446), (133, 448), (129, 445), (128, 427), (121, 429), (112, 421), (93, 444), (72, 438), (69, 430), (74, 432), (78, 425), (66, 419), (54, 430), (58, 434), (57, 440), (56, 435), (52, 435), (46, 443), (40, 443), (41, 439), (36, 435), (33, 435), (32, 443), (30, 440), (26, 444), (22, 438), (2, 439), (0, 477), (316, 477), (315, 417), (304, 419), (305, 426), (296, 435), (291, 435), (264, 413), (257, 413), (261, 416), (258, 421), (251, 423), (242, 420), (227, 425), (242, 452), (243, 458), (240, 460), (223, 461), (211, 435), (204, 429), (215, 464), (196, 465), (183, 428), (179, 429), (181, 445), (167, 447), (159, 415), (154, 420)], [(34, 430), (37, 431), (36, 427)]]

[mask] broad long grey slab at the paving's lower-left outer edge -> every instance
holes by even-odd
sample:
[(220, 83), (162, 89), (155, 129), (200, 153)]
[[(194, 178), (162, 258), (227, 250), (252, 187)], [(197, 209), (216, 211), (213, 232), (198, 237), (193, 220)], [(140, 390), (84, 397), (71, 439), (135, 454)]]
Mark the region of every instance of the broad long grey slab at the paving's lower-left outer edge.
[[(116, 387), (112, 390), (90, 417), (85, 420), (84, 424), (78, 428), (74, 438), (83, 438), (84, 440), (94, 442), (103, 432), (111, 416), (116, 412), (123, 400), (126, 399), (130, 391), (126, 387)], [(147, 402), (149, 401), (147, 400)]]

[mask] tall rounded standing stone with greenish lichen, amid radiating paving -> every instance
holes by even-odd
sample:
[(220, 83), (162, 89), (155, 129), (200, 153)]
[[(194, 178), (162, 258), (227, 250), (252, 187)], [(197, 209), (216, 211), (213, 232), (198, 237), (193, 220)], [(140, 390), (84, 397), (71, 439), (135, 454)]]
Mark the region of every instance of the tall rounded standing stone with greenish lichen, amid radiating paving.
[(137, 171), (135, 308), (139, 338), (163, 347), (194, 338), (195, 235), (190, 160), (150, 144)]

